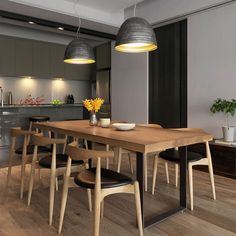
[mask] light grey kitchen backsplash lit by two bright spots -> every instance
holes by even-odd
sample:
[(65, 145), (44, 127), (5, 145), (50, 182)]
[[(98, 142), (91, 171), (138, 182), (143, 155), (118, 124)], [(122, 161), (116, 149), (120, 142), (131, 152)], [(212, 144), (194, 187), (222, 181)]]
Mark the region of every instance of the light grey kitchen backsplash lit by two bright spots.
[(0, 77), (0, 86), (4, 92), (4, 103), (7, 103), (7, 93), (12, 92), (13, 104), (19, 103), (20, 99), (31, 94), (36, 98), (44, 97), (43, 103), (51, 103), (53, 99), (65, 102), (67, 94), (73, 94), (75, 103), (90, 97), (90, 82), (75, 80), (50, 80), (36, 78)]

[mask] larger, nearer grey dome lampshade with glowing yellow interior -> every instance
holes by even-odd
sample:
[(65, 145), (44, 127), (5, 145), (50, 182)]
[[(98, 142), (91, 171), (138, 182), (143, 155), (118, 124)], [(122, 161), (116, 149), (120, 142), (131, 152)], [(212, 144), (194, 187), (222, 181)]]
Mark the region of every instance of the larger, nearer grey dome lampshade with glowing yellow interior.
[(157, 49), (152, 26), (143, 18), (131, 17), (120, 27), (115, 49), (120, 52), (148, 52)]

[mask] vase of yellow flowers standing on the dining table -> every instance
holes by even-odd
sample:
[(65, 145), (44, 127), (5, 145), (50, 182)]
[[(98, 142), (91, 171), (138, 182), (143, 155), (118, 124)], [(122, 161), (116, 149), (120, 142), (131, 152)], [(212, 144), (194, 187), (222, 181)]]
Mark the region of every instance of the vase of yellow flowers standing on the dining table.
[(98, 124), (96, 113), (100, 110), (104, 100), (102, 98), (85, 99), (83, 101), (84, 107), (90, 111), (89, 124), (95, 126)]

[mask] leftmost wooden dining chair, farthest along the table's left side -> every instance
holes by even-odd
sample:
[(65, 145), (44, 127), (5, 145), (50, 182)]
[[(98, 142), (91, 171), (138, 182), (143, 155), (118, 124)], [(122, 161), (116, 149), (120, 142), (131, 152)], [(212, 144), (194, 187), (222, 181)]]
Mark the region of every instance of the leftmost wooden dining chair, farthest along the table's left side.
[[(22, 130), (20, 127), (11, 128), (10, 137), (11, 144), (9, 149), (9, 157), (8, 157), (8, 174), (7, 174), (7, 183), (6, 187), (9, 186), (13, 159), (15, 156), (21, 156), (21, 183), (20, 183), (20, 198), (23, 198), (24, 193), (24, 182), (25, 182), (25, 167), (26, 164), (30, 164), (31, 157), (33, 155), (33, 149), (28, 144), (29, 137), (35, 134), (34, 131)], [(17, 142), (21, 141), (23, 138), (23, 145), (20, 148), (17, 147)], [(48, 155), (50, 153), (50, 149), (47, 147), (39, 148), (39, 156)]]

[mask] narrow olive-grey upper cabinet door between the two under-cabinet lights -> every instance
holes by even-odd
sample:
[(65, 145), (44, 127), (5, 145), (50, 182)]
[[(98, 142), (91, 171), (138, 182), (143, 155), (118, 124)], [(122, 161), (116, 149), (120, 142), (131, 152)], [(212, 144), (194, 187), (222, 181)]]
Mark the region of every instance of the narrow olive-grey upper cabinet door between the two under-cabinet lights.
[(50, 78), (50, 45), (33, 41), (33, 76)]

